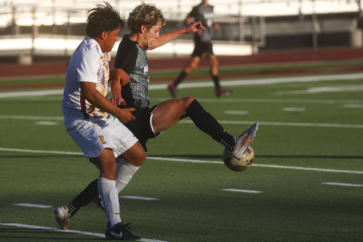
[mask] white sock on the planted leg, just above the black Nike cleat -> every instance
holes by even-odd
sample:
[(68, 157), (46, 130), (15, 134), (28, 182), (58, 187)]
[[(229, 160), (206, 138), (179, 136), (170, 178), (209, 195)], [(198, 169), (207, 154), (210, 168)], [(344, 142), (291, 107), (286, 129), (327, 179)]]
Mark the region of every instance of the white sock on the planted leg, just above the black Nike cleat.
[(105, 208), (107, 222), (111, 228), (121, 222), (120, 205), (118, 203), (118, 192), (115, 187), (116, 182), (103, 177), (98, 178), (98, 193), (102, 199), (103, 207)]

